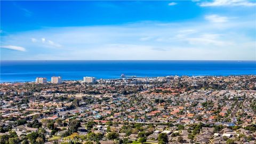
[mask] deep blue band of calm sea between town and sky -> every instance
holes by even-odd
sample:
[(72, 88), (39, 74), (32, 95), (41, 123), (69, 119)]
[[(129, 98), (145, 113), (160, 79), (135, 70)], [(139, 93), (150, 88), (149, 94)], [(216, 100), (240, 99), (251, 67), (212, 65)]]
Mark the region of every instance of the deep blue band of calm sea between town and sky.
[(155, 77), (168, 75), (256, 75), (256, 61), (1, 61), (1, 82), (35, 81), (36, 77), (61, 76), (64, 80)]

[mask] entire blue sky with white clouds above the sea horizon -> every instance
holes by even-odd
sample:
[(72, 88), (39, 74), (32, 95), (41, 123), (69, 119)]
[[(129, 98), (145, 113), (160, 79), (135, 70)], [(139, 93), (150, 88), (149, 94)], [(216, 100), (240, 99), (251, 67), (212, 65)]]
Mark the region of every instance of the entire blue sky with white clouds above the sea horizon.
[(256, 60), (256, 1), (1, 1), (1, 60)]

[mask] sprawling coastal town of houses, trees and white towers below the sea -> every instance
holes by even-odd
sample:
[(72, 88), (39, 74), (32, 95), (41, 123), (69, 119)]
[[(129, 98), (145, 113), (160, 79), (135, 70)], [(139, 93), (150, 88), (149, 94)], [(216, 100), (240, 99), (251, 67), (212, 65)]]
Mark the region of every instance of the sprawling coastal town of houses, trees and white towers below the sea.
[(52, 77), (51, 83), (1, 83), (0, 142), (255, 143), (255, 79)]

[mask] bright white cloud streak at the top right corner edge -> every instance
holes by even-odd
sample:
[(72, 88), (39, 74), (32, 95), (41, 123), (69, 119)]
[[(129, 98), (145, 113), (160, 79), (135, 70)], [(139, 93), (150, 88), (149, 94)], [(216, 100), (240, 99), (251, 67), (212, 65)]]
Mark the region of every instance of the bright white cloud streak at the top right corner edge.
[(256, 6), (255, 1), (215, 0), (199, 3), (200, 6)]

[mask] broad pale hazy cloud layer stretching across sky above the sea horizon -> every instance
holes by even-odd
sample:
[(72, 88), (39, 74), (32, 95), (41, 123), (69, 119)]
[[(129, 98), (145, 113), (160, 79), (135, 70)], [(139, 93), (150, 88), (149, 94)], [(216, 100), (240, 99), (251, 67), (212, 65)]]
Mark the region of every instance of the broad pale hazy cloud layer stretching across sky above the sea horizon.
[[(205, 20), (147, 21), (45, 28), (3, 36), (2, 43), (25, 46), (29, 53), (20, 53), (20, 59), (255, 60), (256, 42), (250, 35), (253, 29), (251, 19), (230, 19), (212, 25)], [(58, 48), (58, 44), (61, 49), (52, 49)], [(2, 59), (13, 58), (12, 53), (8, 54), (5, 51)]]

